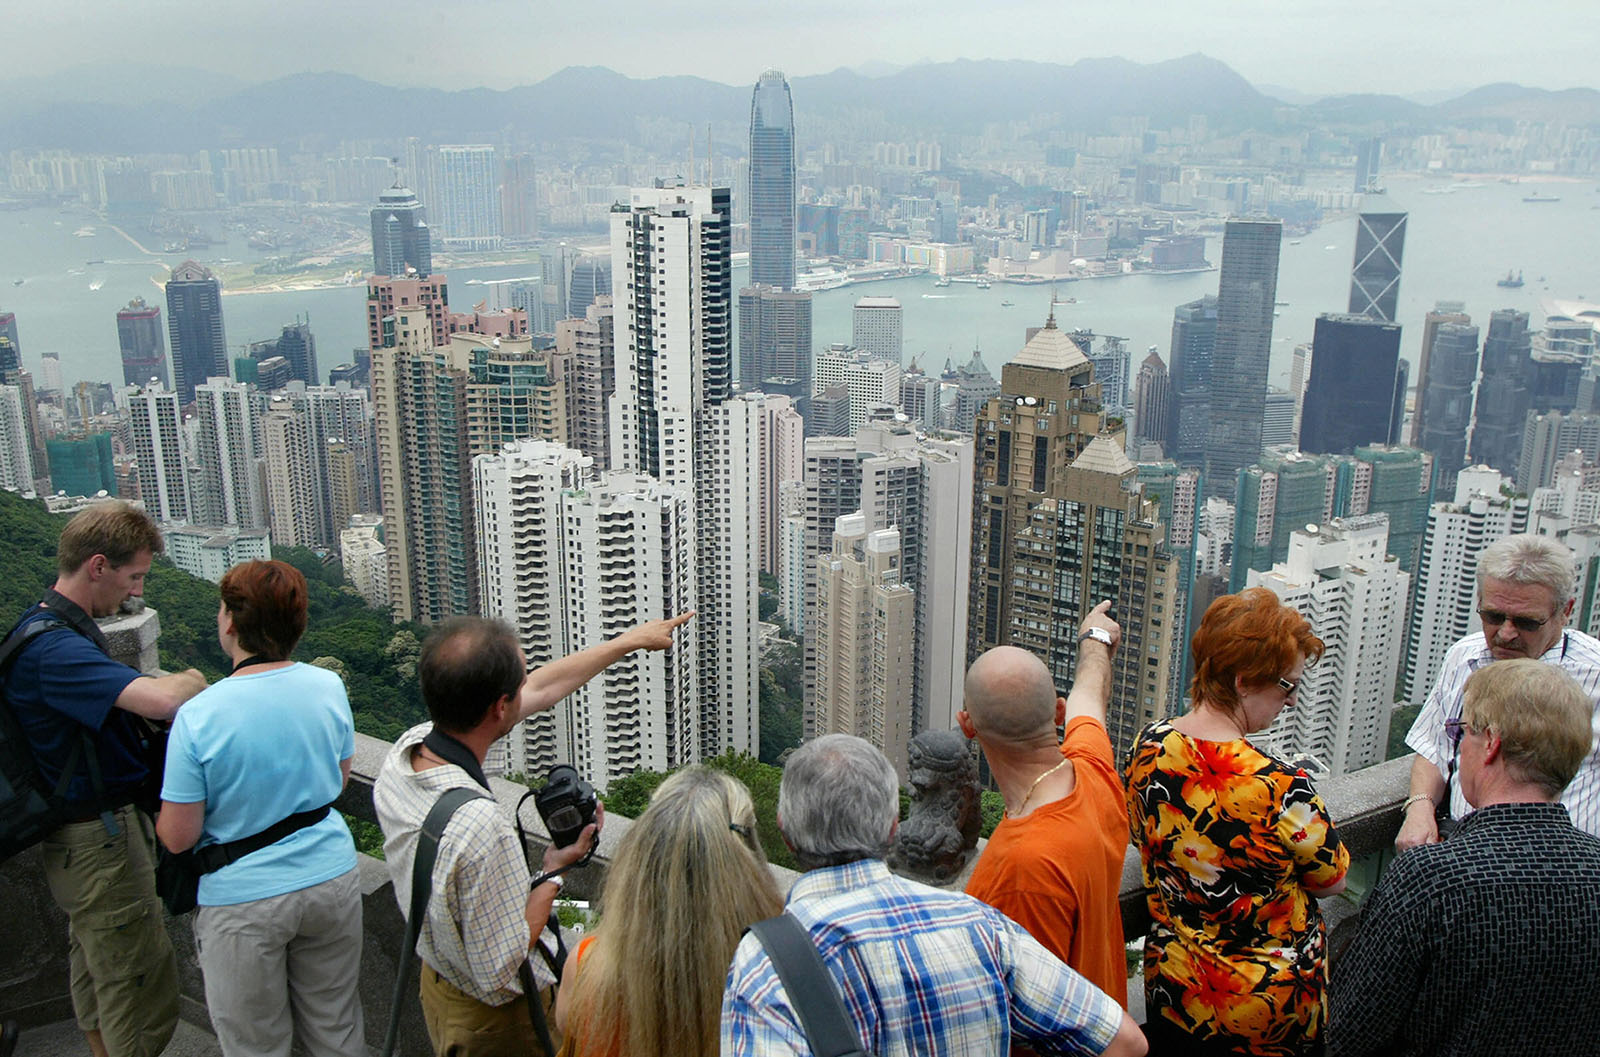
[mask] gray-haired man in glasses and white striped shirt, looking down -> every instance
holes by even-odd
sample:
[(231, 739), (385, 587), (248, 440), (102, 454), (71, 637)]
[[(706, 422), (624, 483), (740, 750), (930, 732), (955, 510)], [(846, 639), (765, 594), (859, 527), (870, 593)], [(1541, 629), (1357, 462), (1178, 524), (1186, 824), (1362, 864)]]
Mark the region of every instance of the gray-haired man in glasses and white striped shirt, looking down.
[[(1600, 724), (1600, 641), (1566, 627), (1573, 616), (1578, 571), (1566, 544), (1549, 536), (1506, 536), (1478, 555), (1478, 620), (1482, 632), (1450, 648), (1438, 681), (1406, 734), (1416, 750), (1411, 793), (1395, 838), (1400, 851), (1438, 840), (1438, 809), (1459, 820), (1470, 811), (1456, 769), (1446, 724), (1461, 718), (1467, 678), (1496, 660), (1531, 659), (1554, 664), (1589, 694)], [(1448, 800), (1446, 800), (1448, 798)], [(1562, 795), (1573, 825), (1600, 836), (1600, 755), (1592, 747)]]

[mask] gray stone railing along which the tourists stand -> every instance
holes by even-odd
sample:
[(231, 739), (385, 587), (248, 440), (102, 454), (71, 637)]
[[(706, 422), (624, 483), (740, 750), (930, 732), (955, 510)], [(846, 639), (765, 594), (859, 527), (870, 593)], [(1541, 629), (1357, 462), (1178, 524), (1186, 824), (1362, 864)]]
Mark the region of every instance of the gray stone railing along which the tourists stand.
[[(146, 672), (157, 670), (155, 641), (160, 630), (154, 609), (112, 617), (104, 622), (115, 656)], [(346, 787), (339, 811), (366, 822), (376, 822), (373, 808), (373, 784), (382, 768), (390, 744), (376, 737), (355, 737), (355, 760), (350, 766), (350, 782)], [(1400, 827), (1400, 801), (1406, 793), (1410, 758), (1394, 760), (1339, 779), (1318, 784), (1318, 792), (1328, 801), (1339, 835), (1358, 859), (1352, 870), (1352, 892), (1323, 900), (1323, 913), (1333, 931), (1333, 943), (1342, 945), (1342, 932), (1350, 923), (1358, 897), (1376, 878), (1378, 868), (1387, 860), (1394, 835)], [(526, 788), (514, 782), (491, 779), (494, 798), (501, 809), (512, 816)], [(528, 832), (530, 856), (538, 862), (547, 843), (547, 835), (531, 804), (523, 806), (523, 827)], [(611, 860), (618, 841), (632, 825), (629, 819), (606, 819), (600, 835), (600, 848), (594, 860), (568, 875), (565, 894), (571, 899), (592, 899)], [(795, 875), (774, 867), (781, 891), (787, 891)], [(405, 942), (405, 919), (395, 902), (394, 887), (382, 862), (362, 856), (362, 916), (365, 939), (362, 947), (362, 1004), (366, 1014), (366, 1038), (373, 1049), (382, 1041), (389, 1020), (389, 1003), (394, 988), (395, 967)], [(952, 881), (960, 886), (963, 878)], [(45, 887), (38, 865), (38, 849), (30, 849), (0, 865), (0, 905), (6, 907), (8, 942), (0, 947), (0, 1012), (24, 1027), (51, 1023), (72, 1017), (67, 969), (67, 923)], [(1144, 934), (1149, 916), (1139, 878), (1139, 859), (1130, 848), (1123, 864), (1122, 880), (1123, 931), (1128, 939)], [(178, 951), (182, 987), (181, 1011), (190, 1023), (210, 1030), (205, 1009), (205, 988), (200, 967), (194, 956), (194, 934), (189, 918), (168, 919), (173, 947)], [(398, 1052), (406, 1057), (424, 1057), (430, 1052), (416, 1003), (416, 985), (408, 990), (402, 1015)]]

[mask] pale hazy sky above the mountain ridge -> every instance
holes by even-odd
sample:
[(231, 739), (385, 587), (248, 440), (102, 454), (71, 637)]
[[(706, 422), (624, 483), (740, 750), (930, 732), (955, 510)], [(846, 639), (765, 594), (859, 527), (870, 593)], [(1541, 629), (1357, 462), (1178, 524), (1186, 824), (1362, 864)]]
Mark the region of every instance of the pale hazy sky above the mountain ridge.
[(82, 64), (245, 80), (341, 70), (509, 88), (565, 66), (750, 83), (866, 62), (1203, 51), (1254, 83), (1416, 93), (1600, 86), (1594, 0), (8, 0), (0, 77)]

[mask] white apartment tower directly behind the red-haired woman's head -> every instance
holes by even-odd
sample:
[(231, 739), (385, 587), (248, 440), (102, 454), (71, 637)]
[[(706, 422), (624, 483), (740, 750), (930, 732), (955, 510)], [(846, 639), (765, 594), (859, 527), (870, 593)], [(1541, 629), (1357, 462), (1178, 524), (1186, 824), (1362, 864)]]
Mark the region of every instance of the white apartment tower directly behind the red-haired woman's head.
[(1270, 572), (1251, 569), (1250, 585), (1298, 609), (1323, 643), (1294, 707), (1262, 737), (1264, 752), (1309, 755), (1330, 776), (1382, 761), (1411, 582), (1387, 548), (1387, 513), (1333, 518), (1291, 534), (1288, 561)]

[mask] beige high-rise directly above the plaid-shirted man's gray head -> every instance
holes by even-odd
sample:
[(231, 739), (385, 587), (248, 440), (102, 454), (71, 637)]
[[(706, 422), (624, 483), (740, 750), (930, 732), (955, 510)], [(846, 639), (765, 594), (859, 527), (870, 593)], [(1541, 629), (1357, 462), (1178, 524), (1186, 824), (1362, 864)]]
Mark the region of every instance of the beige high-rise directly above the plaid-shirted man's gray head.
[(838, 518), (832, 542), (816, 560), (814, 728), (866, 739), (906, 780), (917, 598), (902, 577), (899, 531), (869, 532), (856, 512)]

